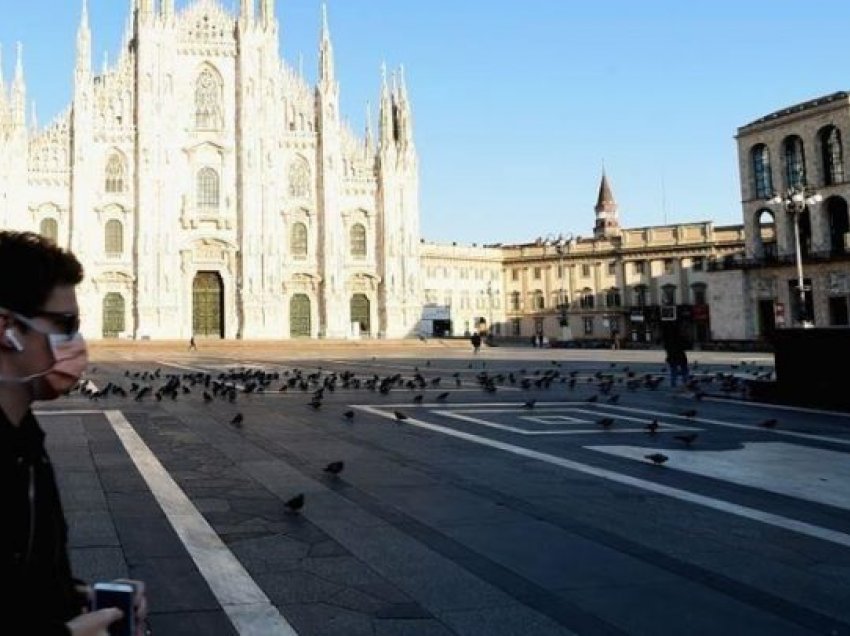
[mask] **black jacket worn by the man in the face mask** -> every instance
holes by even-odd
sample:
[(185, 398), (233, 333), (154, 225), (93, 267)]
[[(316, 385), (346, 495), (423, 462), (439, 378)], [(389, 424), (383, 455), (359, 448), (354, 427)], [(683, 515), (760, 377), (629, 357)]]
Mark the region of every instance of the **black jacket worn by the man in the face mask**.
[(44, 431), (32, 412), (12, 426), (0, 409), (0, 616), (21, 634), (66, 636), (82, 611), (71, 577), (68, 526)]

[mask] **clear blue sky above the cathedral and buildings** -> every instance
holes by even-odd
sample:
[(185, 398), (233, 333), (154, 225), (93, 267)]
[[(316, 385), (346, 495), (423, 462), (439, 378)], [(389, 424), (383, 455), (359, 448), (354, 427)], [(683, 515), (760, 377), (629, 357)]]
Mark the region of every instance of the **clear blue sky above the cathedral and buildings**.
[[(237, 0), (220, 0), (225, 7)], [(69, 101), (81, 0), (0, 0), (7, 80), (24, 43), (41, 123)], [(131, 0), (89, 0), (95, 64)], [(178, 9), (189, 4), (177, 0)], [(277, 0), (283, 56), (316, 75), (320, 0)], [(422, 232), (588, 235), (601, 167), (621, 222), (740, 222), (738, 126), (850, 88), (846, 0), (328, 0), (355, 129), (404, 64)]]

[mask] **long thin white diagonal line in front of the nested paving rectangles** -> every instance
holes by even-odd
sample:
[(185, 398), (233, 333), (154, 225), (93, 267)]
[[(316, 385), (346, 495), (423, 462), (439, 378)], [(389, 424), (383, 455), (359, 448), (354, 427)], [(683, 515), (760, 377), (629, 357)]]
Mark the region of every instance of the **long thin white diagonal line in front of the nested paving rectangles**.
[[(358, 405), (354, 408), (358, 408), (362, 411), (372, 413), (373, 415), (377, 415), (378, 417), (383, 417), (385, 419), (395, 419), (395, 416), (392, 413), (386, 413), (380, 410), (380, 408), (375, 408), (368, 405)], [(447, 435), (449, 437), (456, 437), (458, 439), (462, 439), (473, 444), (479, 444), (481, 446), (495, 448), (506, 453), (517, 455), (519, 457), (528, 457), (529, 459), (535, 459), (537, 461), (552, 464), (554, 466), (560, 466), (568, 470), (584, 473), (586, 475), (592, 475), (601, 479), (607, 479), (609, 481), (624, 484), (626, 486), (640, 488), (649, 492), (654, 492), (660, 495), (672, 497), (673, 499), (678, 499), (680, 501), (686, 501), (688, 503), (693, 503), (699, 506), (705, 506), (706, 508), (711, 508), (720, 512), (736, 515), (745, 519), (751, 519), (753, 521), (758, 521), (770, 526), (782, 528), (783, 530), (797, 532), (799, 534), (803, 534), (814, 539), (820, 539), (822, 541), (828, 541), (830, 543), (835, 543), (843, 547), (850, 548), (850, 535), (845, 534), (843, 532), (838, 532), (836, 530), (830, 530), (829, 528), (821, 528), (820, 526), (816, 526), (811, 523), (806, 523), (805, 521), (798, 521), (796, 519), (783, 517), (781, 515), (773, 514), (771, 512), (756, 510), (755, 508), (741, 506), (739, 504), (735, 504), (729, 501), (723, 501), (722, 499), (714, 499), (713, 497), (707, 497), (705, 495), (692, 493), (687, 490), (681, 490), (680, 488), (664, 486), (663, 484), (657, 484), (646, 479), (631, 477), (629, 475), (617, 473), (612, 470), (606, 470), (604, 468), (597, 468), (596, 466), (591, 466), (589, 464), (582, 464), (580, 462), (565, 459), (563, 457), (558, 457), (556, 455), (550, 455), (549, 453), (541, 453), (540, 451), (531, 450), (530, 448), (524, 448), (522, 446), (507, 444), (505, 442), (489, 439), (487, 437), (481, 437), (480, 435), (473, 435), (472, 433), (456, 431), (451, 428), (446, 428), (445, 426), (438, 426), (436, 424), (431, 424), (429, 422), (425, 422), (423, 420), (418, 420), (415, 418), (407, 419), (402, 424), (417, 426), (419, 428), (424, 428), (426, 430), (434, 431), (436, 433), (442, 433), (443, 435)], [(664, 467), (658, 467), (658, 470), (665, 469)]]

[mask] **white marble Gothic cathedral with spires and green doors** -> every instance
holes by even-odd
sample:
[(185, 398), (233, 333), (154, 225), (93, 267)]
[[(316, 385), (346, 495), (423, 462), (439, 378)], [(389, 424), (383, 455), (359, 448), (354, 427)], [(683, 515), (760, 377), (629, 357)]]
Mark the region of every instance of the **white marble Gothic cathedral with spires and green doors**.
[(378, 139), (368, 121), (360, 137), (340, 117), (326, 14), (312, 87), (280, 58), (274, 0), (241, 0), (238, 15), (217, 0), (130, 2), (121, 53), (96, 73), (83, 0), (73, 101), (46, 128), (27, 117), (20, 45), (11, 87), (0, 64), (0, 227), (78, 255), (86, 334), (414, 333), (403, 73), (384, 72)]

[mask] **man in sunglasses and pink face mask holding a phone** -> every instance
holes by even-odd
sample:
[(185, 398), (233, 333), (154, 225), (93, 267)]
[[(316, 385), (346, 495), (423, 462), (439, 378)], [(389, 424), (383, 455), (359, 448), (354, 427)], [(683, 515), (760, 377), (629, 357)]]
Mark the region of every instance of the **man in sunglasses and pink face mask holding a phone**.
[[(77, 386), (88, 364), (73, 254), (29, 232), (0, 232), (0, 596), (3, 633), (97, 636), (122, 617), (88, 611), (92, 590), (72, 578), (68, 524), (44, 431), (32, 412)], [(12, 275), (12, 273), (15, 275)], [(126, 582), (126, 581), (125, 581)], [(144, 586), (136, 636), (146, 631)], [(12, 627), (15, 626), (15, 627)]]

